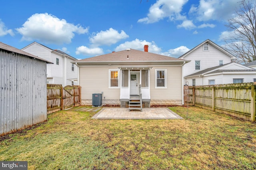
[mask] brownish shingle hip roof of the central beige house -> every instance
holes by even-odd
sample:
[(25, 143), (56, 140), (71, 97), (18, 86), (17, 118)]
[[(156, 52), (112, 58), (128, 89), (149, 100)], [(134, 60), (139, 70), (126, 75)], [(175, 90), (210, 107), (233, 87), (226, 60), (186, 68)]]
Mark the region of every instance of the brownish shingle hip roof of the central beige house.
[[(128, 59), (127, 59), (128, 58)], [(186, 61), (184, 59), (178, 59), (174, 57), (168, 57), (165, 55), (159, 55), (155, 53), (149, 53), (145, 51), (139, 51), (136, 49), (123, 50), (113, 53), (108, 53), (104, 55), (99, 55), (96, 57), (90, 57), (86, 59), (78, 60), (77, 63), (86, 63), (86, 62), (136, 62), (136, 61), (144, 61), (144, 62), (154, 62), (154, 61)]]

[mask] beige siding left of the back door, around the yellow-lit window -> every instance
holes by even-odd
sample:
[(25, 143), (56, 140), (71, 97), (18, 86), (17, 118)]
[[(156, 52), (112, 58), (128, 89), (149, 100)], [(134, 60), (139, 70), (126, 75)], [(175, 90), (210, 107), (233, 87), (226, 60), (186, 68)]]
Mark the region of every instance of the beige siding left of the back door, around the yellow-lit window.
[[(104, 92), (103, 96), (106, 100), (120, 99), (120, 88), (109, 88), (108, 86), (109, 69), (117, 69), (117, 67), (80, 66), (79, 84), (82, 87), (82, 100), (92, 99), (92, 93), (101, 92)], [(118, 78), (120, 83), (120, 73)]]

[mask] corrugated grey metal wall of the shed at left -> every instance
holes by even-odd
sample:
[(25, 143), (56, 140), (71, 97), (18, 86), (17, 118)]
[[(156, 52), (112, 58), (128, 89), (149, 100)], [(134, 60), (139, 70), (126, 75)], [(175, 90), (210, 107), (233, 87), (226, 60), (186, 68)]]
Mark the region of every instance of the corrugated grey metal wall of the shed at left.
[(0, 134), (47, 119), (46, 62), (0, 49)]

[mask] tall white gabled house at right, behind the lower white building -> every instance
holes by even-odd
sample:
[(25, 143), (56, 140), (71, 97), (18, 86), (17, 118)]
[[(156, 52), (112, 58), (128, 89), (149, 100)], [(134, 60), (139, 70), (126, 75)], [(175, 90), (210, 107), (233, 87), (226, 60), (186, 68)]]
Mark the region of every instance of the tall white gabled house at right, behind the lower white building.
[[(230, 63), (236, 59), (236, 57), (211, 40), (205, 40), (179, 58), (190, 60), (183, 67), (184, 77), (210, 67)], [(197, 84), (200, 83), (196, 82)]]

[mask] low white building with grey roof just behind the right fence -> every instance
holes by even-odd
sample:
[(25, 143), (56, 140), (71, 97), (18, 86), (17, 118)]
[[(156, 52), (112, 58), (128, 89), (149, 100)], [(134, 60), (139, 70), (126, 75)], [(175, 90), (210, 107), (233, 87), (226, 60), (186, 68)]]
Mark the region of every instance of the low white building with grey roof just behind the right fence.
[(184, 79), (188, 85), (249, 83), (256, 81), (256, 69), (232, 62), (198, 71)]

